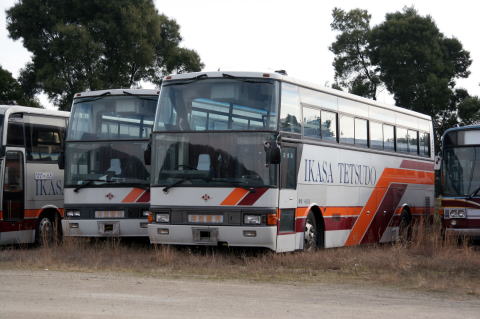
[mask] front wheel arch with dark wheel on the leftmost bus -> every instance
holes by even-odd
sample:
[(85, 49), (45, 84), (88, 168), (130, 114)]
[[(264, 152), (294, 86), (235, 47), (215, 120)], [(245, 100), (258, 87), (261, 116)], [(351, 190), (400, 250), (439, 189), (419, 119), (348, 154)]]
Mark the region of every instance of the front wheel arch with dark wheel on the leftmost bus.
[(61, 238), (61, 215), (55, 208), (45, 208), (38, 216), (35, 242), (40, 246), (48, 246)]

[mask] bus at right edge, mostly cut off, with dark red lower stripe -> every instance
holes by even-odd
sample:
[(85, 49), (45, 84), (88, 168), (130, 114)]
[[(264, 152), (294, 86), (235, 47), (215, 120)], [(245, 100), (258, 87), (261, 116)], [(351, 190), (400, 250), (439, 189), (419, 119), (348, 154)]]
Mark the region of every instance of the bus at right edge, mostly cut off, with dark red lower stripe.
[(480, 238), (480, 126), (442, 137), (439, 204), (446, 233)]

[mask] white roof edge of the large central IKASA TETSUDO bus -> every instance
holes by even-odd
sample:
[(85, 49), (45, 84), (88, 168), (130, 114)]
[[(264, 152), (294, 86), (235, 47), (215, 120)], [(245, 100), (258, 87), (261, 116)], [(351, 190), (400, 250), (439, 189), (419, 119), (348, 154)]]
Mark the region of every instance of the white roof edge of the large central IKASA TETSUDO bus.
[(380, 103), (378, 101), (374, 101), (374, 100), (367, 99), (367, 98), (364, 98), (364, 97), (361, 97), (361, 96), (358, 96), (358, 95), (354, 95), (354, 94), (350, 94), (350, 93), (345, 93), (345, 92), (342, 92), (342, 91), (339, 91), (339, 90), (336, 90), (336, 89), (323, 87), (323, 86), (313, 84), (313, 83), (310, 83), (310, 82), (307, 82), (307, 81), (297, 80), (297, 79), (292, 78), (290, 76), (285, 76), (285, 75), (282, 75), (282, 74), (279, 74), (279, 73), (276, 73), (276, 72), (238, 72), (238, 71), (194, 72), (194, 73), (182, 73), (182, 74), (168, 75), (168, 76), (164, 77), (163, 80), (164, 81), (169, 81), (169, 80), (191, 79), (191, 78), (195, 78), (199, 75), (203, 75), (203, 74), (206, 74), (207, 77), (209, 77), (209, 78), (223, 78), (223, 74), (228, 74), (228, 75), (232, 75), (232, 76), (235, 76), (235, 77), (276, 79), (276, 80), (280, 80), (280, 81), (283, 81), (283, 82), (288, 82), (288, 83), (296, 84), (298, 86), (302, 86), (302, 87), (305, 87), (305, 88), (320, 91), (320, 92), (323, 92), (323, 93), (332, 94), (332, 95), (335, 95), (337, 97), (349, 99), (349, 100), (364, 103), (364, 104), (377, 106), (377, 107), (380, 107), (380, 108), (392, 110), (394, 112), (408, 114), (408, 115), (412, 115), (412, 116), (415, 116), (415, 117), (418, 117), (418, 118), (422, 118), (422, 119), (431, 121), (431, 117), (429, 115), (426, 115), (426, 114), (423, 114), (423, 113), (415, 112), (415, 111), (405, 109), (405, 108), (395, 106), (395, 105)]

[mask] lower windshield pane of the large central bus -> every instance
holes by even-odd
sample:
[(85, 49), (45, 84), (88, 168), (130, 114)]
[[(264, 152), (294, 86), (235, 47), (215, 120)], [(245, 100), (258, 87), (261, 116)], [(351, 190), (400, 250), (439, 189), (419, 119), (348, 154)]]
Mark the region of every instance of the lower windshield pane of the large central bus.
[(154, 135), (156, 185), (273, 187), (278, 165), (265, 165), (269, 133)]

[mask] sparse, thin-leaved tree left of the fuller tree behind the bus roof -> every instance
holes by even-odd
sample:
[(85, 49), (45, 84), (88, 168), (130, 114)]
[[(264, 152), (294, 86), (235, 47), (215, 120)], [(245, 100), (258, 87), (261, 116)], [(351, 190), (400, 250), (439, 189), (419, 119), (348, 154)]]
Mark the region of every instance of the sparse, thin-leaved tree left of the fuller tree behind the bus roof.
[(329, 48), (335, 54), (337, 86), (375, 100), (381, 82), (368, 52), (371, 15), (361, 9), (345, 12), (335, 8), (332, 17), (332, 30), (340, 32)]

